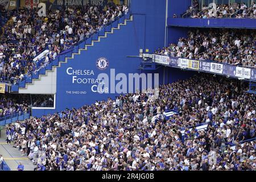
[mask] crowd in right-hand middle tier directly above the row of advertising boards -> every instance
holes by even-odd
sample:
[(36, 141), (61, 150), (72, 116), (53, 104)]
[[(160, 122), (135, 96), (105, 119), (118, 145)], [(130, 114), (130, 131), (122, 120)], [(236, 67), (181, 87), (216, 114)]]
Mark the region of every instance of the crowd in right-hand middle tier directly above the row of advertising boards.
[(188, 38), (155, 53), (256, 68), (255, 30), (192, 29)]

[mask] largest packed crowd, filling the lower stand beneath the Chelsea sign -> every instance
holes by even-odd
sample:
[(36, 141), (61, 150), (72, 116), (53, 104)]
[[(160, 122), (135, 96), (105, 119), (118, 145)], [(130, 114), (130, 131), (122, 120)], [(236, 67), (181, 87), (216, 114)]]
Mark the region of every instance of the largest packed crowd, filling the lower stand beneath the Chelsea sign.
[[(7, 132), (38, 171), (255, 170), (256, 143), (246, 140), (256, 137), (256, 99), (244, 89), (197, 75), (16, 122)], [(166, 119), (163, 112), (174, 107), (180, 114)], [(207, 129), (197, 130), (199, 123)]]

